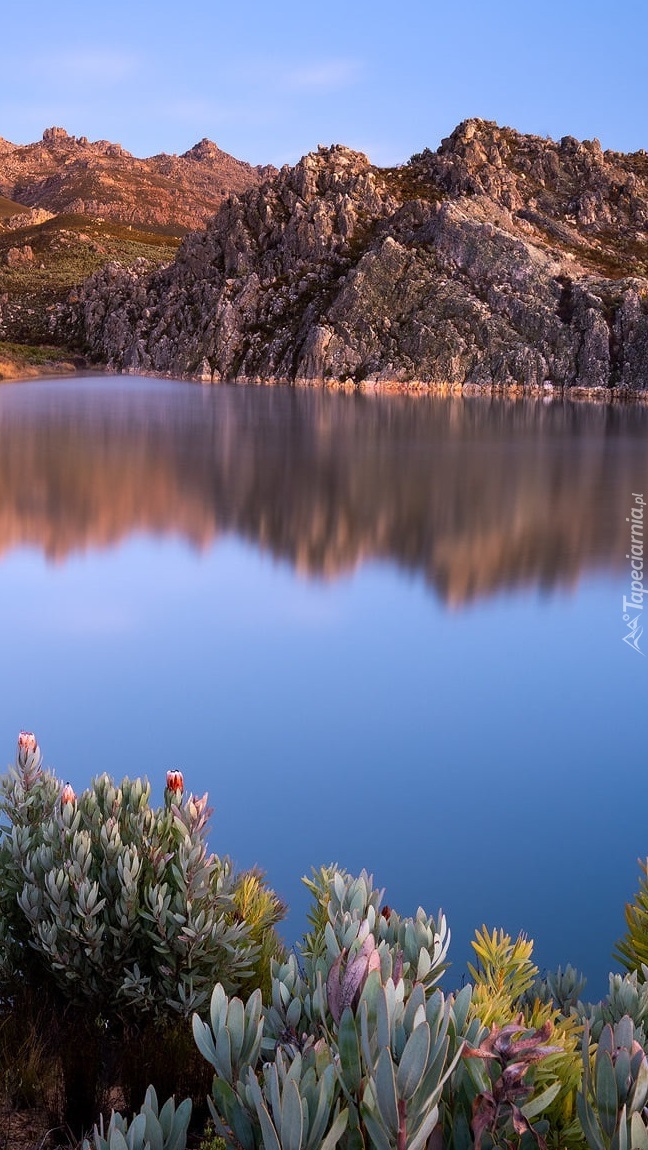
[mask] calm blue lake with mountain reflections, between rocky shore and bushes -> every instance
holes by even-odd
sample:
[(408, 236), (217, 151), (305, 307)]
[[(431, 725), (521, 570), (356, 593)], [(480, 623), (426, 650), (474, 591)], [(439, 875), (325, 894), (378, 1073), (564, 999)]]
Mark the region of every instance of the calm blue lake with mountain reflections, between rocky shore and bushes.
[[(101, 378), (0, 389), (0, 742), (167, 769), (212, 846), (373, 871), (599, 997), (648, 854), (648, 409)], [(648, 518), (648, 513), (647, 513)]]

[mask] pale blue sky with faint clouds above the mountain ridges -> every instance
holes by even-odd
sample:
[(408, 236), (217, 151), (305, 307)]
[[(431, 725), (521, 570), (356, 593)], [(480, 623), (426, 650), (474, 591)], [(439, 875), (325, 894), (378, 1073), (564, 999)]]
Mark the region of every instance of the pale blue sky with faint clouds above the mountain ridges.
[(251, 163), (346, 144), (405, 162), (471, 116), (648, 147), (646, 0), (32, 0), (2, 6), (0, 136)]

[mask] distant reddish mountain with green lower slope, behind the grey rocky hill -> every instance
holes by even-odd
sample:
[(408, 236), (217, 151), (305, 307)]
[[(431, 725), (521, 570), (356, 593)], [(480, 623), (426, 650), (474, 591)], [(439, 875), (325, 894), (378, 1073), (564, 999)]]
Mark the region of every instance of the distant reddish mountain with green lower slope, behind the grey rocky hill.
[(51, 342), (53, 317), (92, 271), (168, 263), (228, 195), (273, 175), (207, 139), (139, 160), (63, 128), (24, 146), (0, 138), (0, 340)]

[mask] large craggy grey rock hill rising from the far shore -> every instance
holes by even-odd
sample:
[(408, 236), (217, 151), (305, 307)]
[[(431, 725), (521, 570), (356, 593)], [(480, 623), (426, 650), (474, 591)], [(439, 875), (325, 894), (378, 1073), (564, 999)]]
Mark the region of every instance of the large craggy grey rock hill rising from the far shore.
[(479, 120), (397, 169), (320, 148), (63, 327), (119, 370), (642, 391), (648, 156)]

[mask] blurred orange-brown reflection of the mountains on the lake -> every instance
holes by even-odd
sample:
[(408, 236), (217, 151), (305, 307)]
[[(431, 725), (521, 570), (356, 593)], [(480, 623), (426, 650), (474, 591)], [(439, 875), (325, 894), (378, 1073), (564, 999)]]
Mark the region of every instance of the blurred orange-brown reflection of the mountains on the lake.
[(0, 391), (0, 550), (237, 532), (304, 573), (368, 558), (449, 604), (619, 567), (648, 409), (145, 379)]

